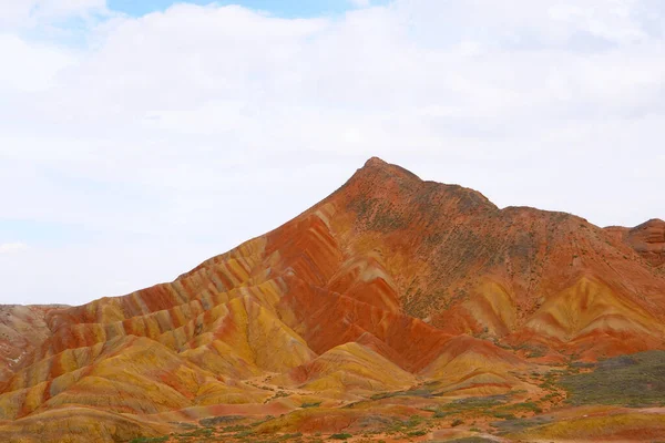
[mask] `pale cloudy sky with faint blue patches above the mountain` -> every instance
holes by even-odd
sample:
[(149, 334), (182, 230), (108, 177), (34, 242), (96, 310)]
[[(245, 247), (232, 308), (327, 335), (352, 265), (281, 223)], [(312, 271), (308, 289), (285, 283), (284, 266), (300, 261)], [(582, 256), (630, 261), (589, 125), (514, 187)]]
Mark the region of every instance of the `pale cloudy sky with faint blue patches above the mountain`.
[(371, 156), (665, 218), (661, 0), (0, 0), (0, 303), (171, 281)]

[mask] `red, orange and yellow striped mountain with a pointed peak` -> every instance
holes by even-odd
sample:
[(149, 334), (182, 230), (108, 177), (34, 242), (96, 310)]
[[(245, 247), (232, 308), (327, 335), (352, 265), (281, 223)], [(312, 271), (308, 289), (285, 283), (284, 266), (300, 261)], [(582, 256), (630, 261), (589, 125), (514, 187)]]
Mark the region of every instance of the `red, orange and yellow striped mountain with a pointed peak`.
[[(0, 440), (556, 441), (587, 426), (566, 378), (663, 349), (663, 220), (500, 209), (371, 158), (170, 284), (0, 308)], [(587, 439), (665, 433), (662, 400), (597, 410)]]

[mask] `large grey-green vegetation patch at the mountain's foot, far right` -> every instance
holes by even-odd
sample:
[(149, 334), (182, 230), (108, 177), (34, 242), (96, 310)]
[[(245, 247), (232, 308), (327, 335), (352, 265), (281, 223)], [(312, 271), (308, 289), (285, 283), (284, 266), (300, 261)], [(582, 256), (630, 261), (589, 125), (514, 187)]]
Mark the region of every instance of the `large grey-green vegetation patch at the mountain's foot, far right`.
[(598, 362), (593, 372), (561, 378), (566, 402), (632, 408), (665, 405), (665, 351), (646, 351)]

